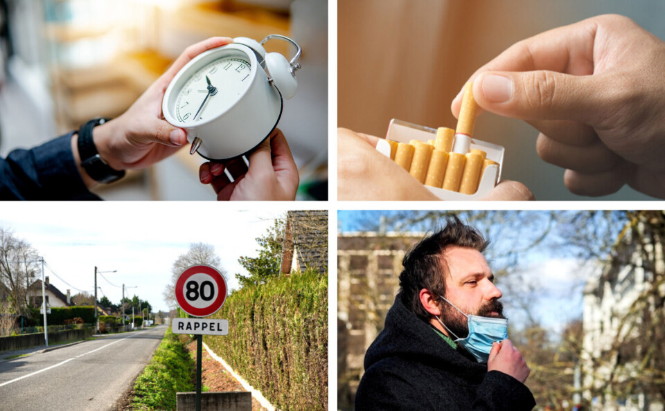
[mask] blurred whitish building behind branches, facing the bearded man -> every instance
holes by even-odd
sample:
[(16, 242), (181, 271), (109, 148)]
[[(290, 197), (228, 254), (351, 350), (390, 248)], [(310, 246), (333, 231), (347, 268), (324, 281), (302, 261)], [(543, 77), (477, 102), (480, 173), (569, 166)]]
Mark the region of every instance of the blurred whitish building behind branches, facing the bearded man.
[[(583, 300), (583, 397), (592, 410), (663, 411), (648, 391), (662, 369), (661, 329), (665, 286), (665, 217), (641, 212), (624, 229), (608, 264), (590, 278)], [(660, 320), (662, 321), (662, 320)], [(655, 325), (655, 327), (653, 327)], [(658, 331), (656, 331), (658, 332)]]

